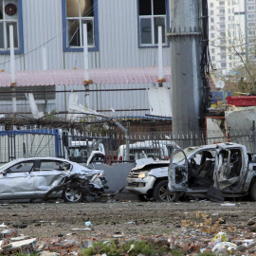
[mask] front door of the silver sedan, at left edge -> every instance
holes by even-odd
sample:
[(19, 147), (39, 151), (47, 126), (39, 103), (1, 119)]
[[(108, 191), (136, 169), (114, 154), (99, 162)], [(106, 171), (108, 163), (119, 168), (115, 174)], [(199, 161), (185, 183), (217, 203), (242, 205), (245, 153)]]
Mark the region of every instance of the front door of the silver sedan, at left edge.
[(0, 174), (0, 198), (32, 198), (34, 195), (31, 172), (35, 161), (20, 161)]

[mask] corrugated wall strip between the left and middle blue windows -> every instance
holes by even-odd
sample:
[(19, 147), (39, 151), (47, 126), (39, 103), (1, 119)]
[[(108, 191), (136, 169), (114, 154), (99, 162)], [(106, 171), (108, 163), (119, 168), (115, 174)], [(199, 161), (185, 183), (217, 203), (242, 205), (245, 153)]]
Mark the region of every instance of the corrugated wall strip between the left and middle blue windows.
[(23, 3), (25, 70), (43, 69), (46, 46), (48, 69), (64, 68), (61, 0), (26, 0)]

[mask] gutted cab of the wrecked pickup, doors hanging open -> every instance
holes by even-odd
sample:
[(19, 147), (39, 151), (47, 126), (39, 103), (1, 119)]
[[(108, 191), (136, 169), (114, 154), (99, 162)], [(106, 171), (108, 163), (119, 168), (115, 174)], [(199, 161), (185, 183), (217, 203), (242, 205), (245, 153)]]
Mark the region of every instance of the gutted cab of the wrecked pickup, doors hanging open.
[(174, 200), (185, 195), (219, 201), (247, 194), (256, 200), (256, 158), (241, 144), (174, 147), (168, 178)]

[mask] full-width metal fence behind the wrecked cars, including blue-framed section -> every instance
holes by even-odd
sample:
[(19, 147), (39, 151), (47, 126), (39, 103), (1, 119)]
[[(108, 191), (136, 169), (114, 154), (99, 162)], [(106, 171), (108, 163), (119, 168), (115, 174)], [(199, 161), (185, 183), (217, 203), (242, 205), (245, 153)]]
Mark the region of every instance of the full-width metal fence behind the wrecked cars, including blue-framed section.
[[(127, 141), (128, 139), (128, 141)], [(107, 161), (134, 161), (153, 157), (167, 159), (172, 143), (182, 148), (236, 142), (247, 146), (250, 153), (256, 154), (255, 132), (183, 133), (173, 136), (171, 132), (130, 134), (129, 137), (117, 135), (86, 134), (70, 136), (58, 129), (0, 132), (0, 164), (12, 159), (32, 156), (57, 156), (85, 163), (92, 151), (100, 151)], [(129, 152), (126, 146), (129, 144)], [(129, 158), (127, 158), (129, 155)]]

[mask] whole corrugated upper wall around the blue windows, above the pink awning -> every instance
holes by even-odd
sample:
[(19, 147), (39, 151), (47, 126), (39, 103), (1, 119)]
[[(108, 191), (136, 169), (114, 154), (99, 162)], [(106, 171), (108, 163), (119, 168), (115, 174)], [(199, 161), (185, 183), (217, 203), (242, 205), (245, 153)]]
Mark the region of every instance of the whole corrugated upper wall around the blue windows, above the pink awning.
[[(83, 68), (82, 52), (63, 51), (61, 0), (26, 0), (23, 5), (24, 55), (16, 55), (16, 70), (43, 68), (46, 46), (48, 69)], [(139, 47), (137, 0), (99, 0), (99, 51), (89, 52), (90, 68), (157, 65), (156, 47)], [(163, 48), (170, 65), (170, 47)], [(7, 63), (6, 63), (7, 62)], [(9, 55), (0, 54), (0, 69), (9, 70)]]

